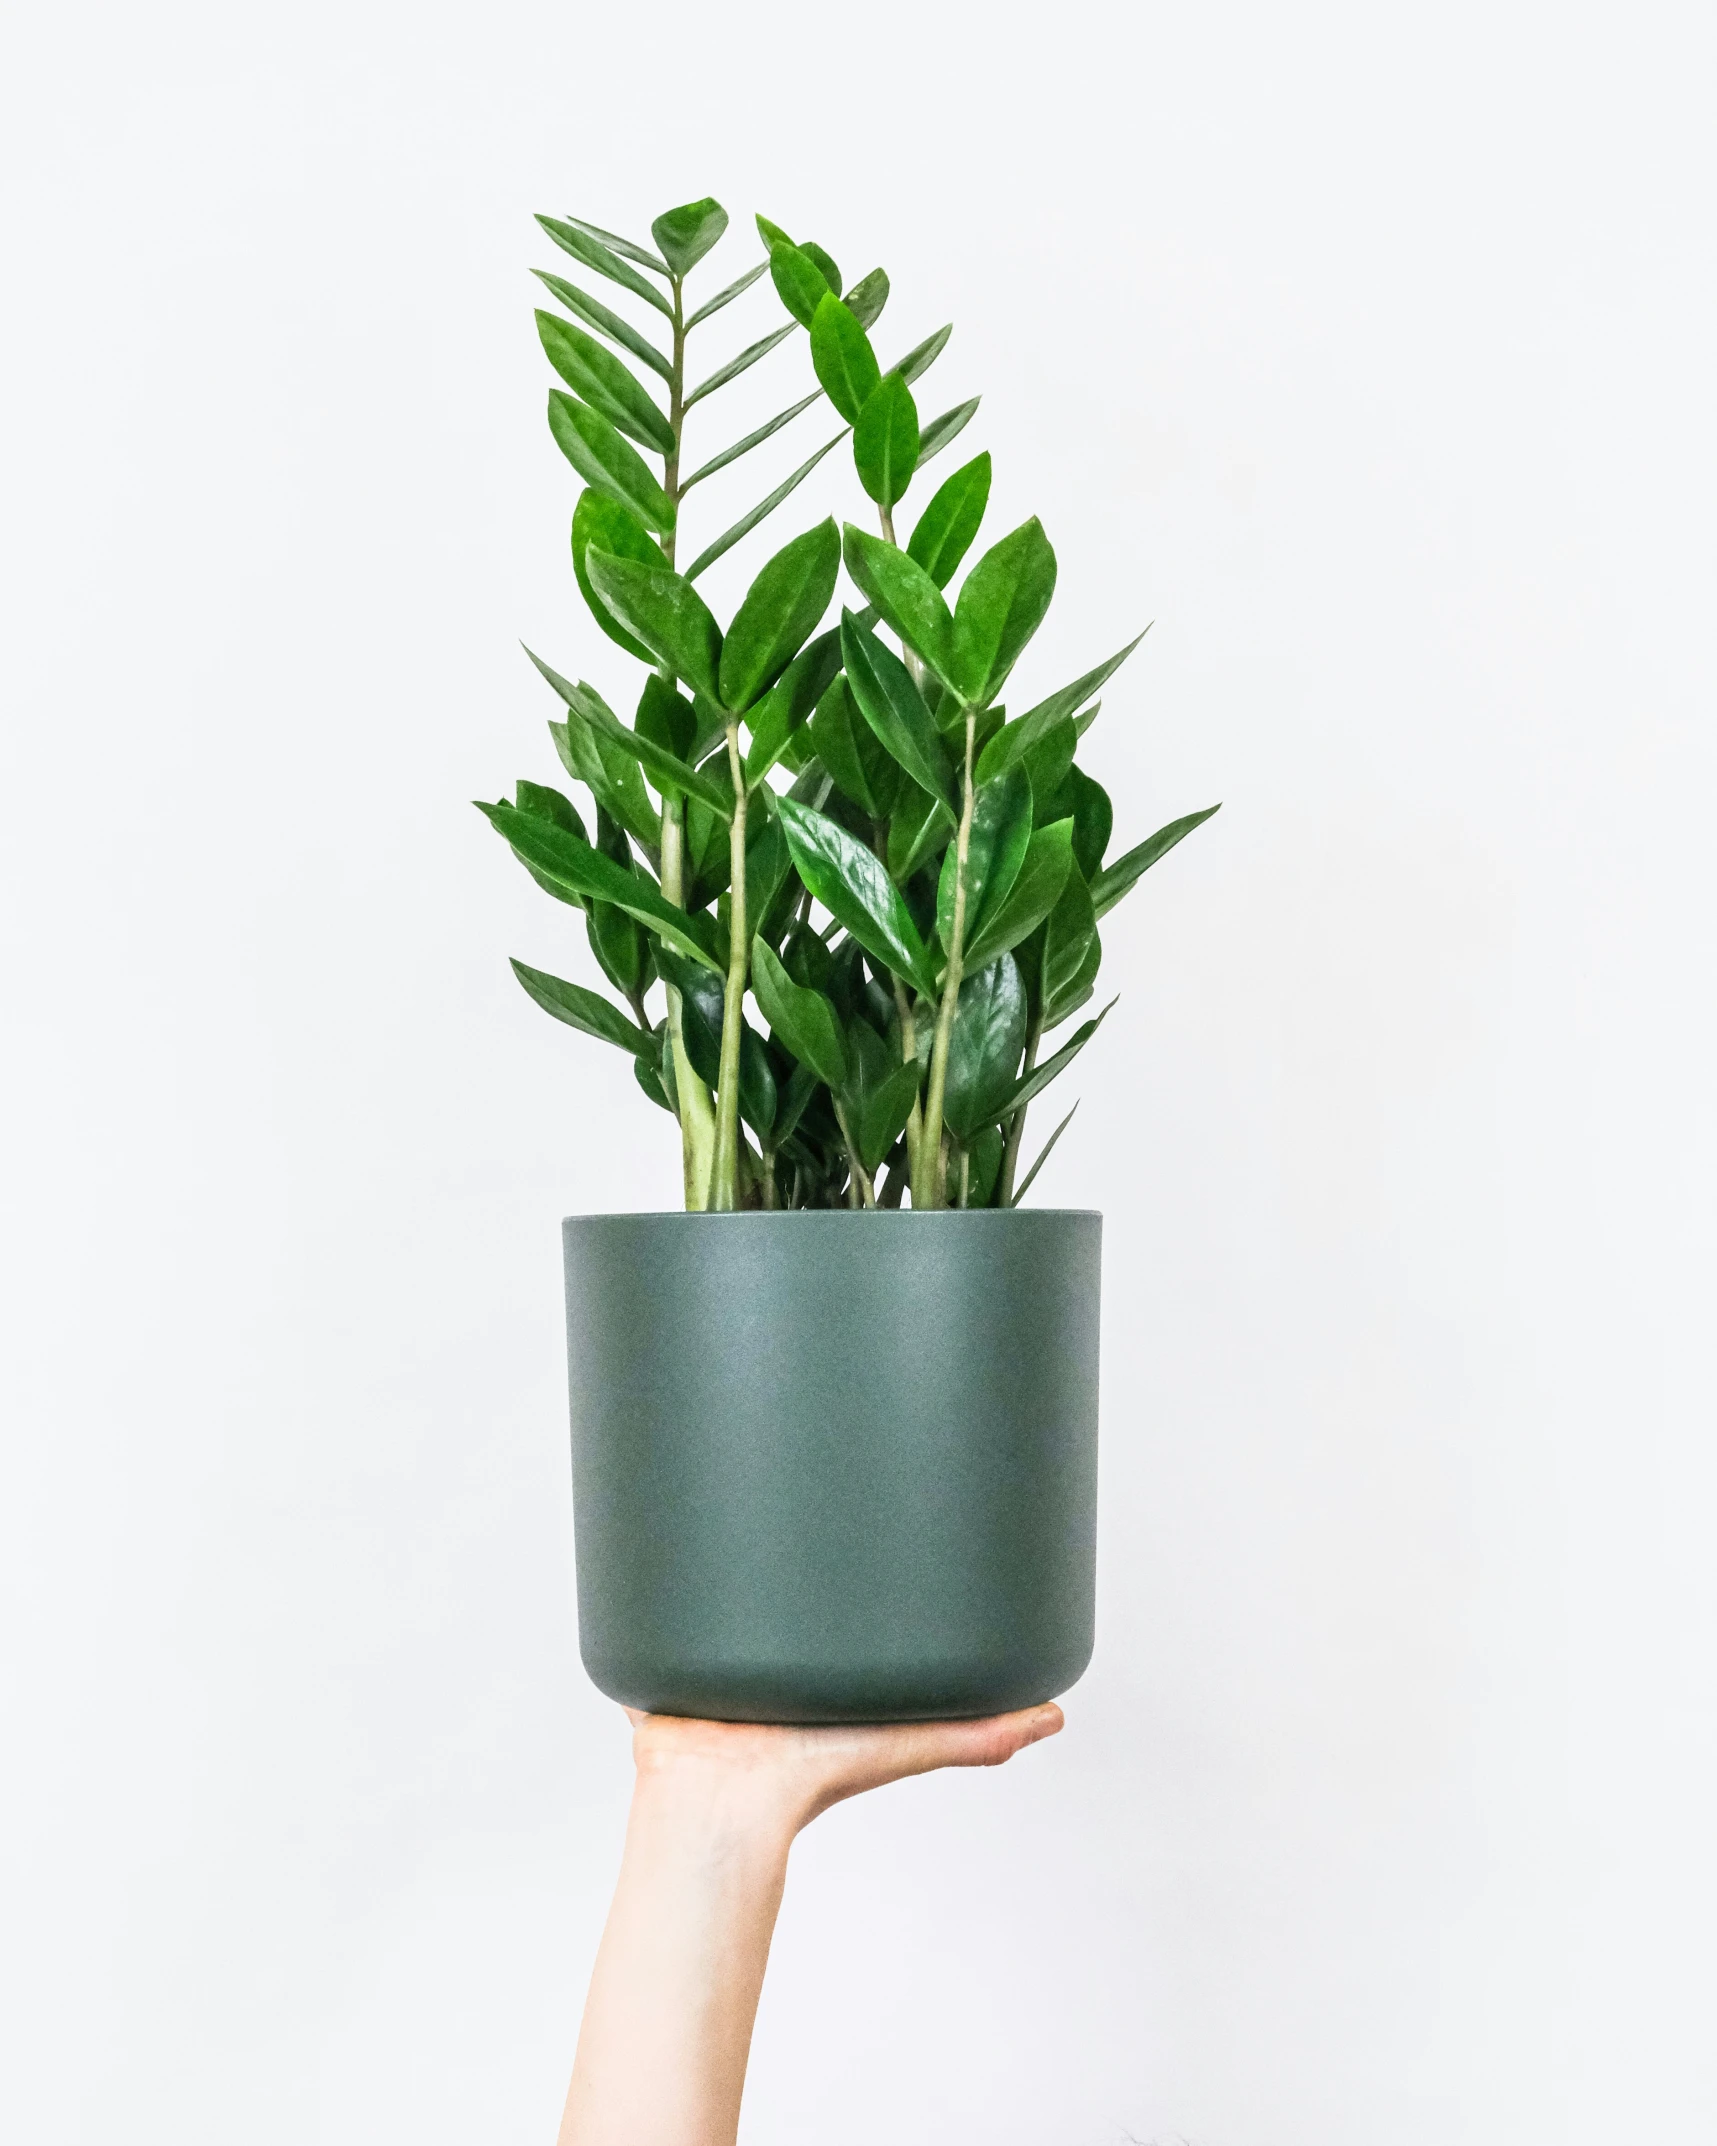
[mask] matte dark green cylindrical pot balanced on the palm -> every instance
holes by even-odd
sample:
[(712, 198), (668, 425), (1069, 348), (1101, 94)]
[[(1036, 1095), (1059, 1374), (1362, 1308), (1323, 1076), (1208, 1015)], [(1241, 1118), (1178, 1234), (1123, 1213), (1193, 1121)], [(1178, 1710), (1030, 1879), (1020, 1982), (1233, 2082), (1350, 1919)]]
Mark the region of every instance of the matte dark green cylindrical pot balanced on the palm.
[(923, 1721), (1092, 1646), (1101, 1215), (575, 1215), (595, 1682), (723, 1721)]

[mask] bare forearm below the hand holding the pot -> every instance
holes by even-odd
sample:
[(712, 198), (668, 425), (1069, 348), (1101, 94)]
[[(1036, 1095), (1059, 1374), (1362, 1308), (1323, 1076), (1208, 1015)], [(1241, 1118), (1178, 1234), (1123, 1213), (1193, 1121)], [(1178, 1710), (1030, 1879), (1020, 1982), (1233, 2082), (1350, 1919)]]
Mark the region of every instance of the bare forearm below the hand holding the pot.
[(560, 2146), (732, 2146), (792, 1833), (721, 1768), (640, 1773)]

